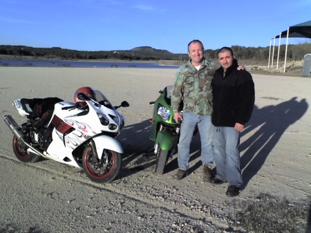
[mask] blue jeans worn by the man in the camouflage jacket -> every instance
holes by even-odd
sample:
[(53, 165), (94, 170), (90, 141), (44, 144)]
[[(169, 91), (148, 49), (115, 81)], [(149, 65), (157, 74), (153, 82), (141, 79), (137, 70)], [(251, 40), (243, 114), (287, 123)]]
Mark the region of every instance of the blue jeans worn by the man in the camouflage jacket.
[(178, 142), (178, 167), (186, 171), (189, 167), (190, 143), (196, 124), (201, 138), (201, 160), (202, 164), (211, 168), (213, 166), (213, 147), (211, 146), (211, 115), (196, 115), (193, 113), (182, 113), (182, 124), (180, 127), (180, 138)]

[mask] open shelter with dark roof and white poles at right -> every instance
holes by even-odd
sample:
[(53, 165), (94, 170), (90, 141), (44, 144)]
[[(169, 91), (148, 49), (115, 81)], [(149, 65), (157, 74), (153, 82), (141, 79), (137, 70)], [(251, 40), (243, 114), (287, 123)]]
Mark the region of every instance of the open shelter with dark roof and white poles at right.
[[(285, 38), (285, 37), (286, 37), (286, 48), (285, 48), (284, 73), (285, 73), (285, 68), (286, 68), (286, 57), (288, 55), (288, 38), (289, 37), (301, 37), (301, 38), (310, 38), (311, 39), (311, 20), (306, 21), (306, 22), (301, 23), (301, 24), (296, 24), (294, 26), (290, 26), (290, 27), (288, 27), (288, 30), (283, 31), (280, 33), (280, 35), (277, 35), (274, 37), (271, 66), (273, 66), (275, 39), (279, 38), (279, 52), (278, 52), (278, 59), (276, 62), (276, 68), (278, 68), (278, 66), (279, 66), (281, 38)], [(270, 53), (271, 53), (271, 40), (270, 40), (270, 49), (269, 49), (268, 68), (270, 67)]]

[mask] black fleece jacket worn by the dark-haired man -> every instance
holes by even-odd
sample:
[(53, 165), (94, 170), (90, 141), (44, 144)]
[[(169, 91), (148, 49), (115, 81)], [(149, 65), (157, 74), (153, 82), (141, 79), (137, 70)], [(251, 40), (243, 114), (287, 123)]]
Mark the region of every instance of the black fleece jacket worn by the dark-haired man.
[(238, 61), (234, 59), (225, 76), (223, 67), (214, 73), (211, 122), (215, 127), (234, 127), (236, 122), (245, 124), (252, 115), (255, 102), (252, 75), (236, 68)]

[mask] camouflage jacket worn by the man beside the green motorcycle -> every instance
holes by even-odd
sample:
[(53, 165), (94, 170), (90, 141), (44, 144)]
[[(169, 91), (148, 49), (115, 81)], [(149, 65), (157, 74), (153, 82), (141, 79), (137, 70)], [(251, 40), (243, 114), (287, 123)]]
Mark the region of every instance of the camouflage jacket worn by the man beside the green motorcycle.
[(183, 100), (183, 111), (197, 115), (211, 115), (212, 97), (211, 80), (216, 68), (216, 63), (203, 59), (199, 71), (189, 60), (180, 66), (173, 81), (173, 94), (171, 107), (173, 112), (180, 111)]

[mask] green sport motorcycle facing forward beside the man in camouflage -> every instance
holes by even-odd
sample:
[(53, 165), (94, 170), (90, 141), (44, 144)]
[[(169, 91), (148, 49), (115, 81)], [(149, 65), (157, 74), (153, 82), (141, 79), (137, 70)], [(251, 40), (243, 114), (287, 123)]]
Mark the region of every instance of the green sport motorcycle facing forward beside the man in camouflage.
[(173, 86), (166, 86), (163, 91), (159, 91), (160, 96), (155, 102), (149, 102), (154, 106), (153, 118), (149, 122), (152, 124), (150, 139), (155, 143), (154, 153), (157, 155), (156, 174), (163, 174), (169, 157), (173, 157), (177, 152), (180, 122), (173, 119), (173, 109), (171, 109), (172, 91)]

